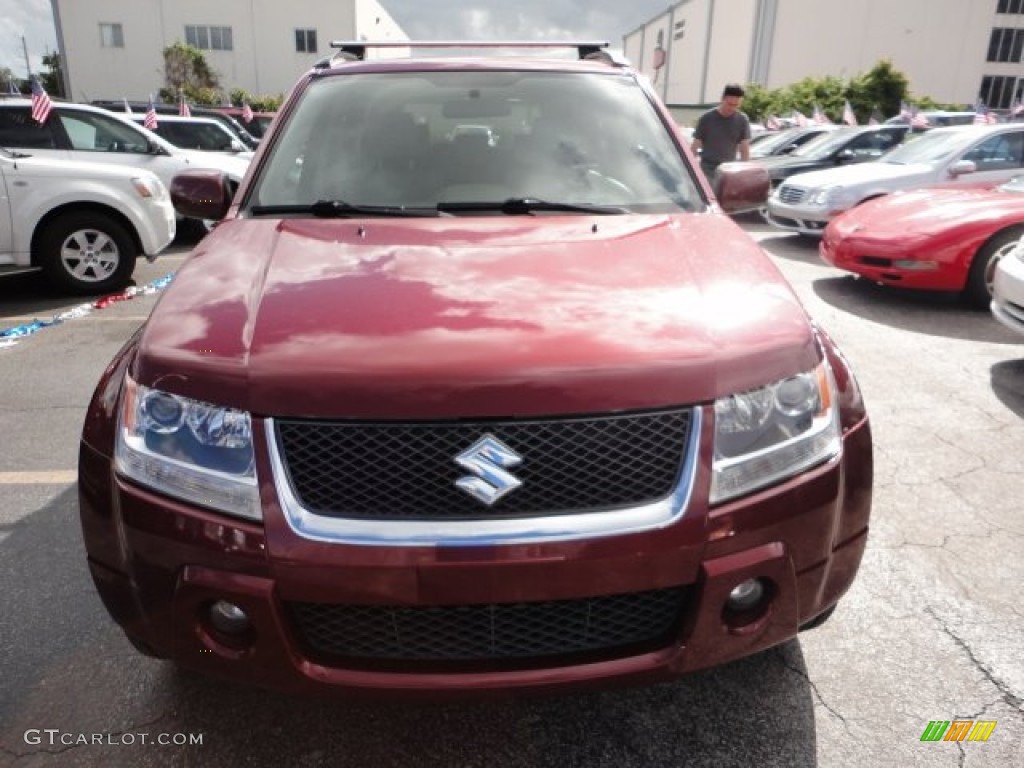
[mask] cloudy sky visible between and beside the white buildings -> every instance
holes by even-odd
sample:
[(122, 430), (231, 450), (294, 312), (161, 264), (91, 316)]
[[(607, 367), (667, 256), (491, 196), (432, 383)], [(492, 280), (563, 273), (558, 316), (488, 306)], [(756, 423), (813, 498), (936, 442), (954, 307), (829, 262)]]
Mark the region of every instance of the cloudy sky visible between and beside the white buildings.
[[(212, 1), (212, 0), (211, 0)], [(380, 0), (414, 40), (606, 40), (623, 37), (653, 18), (673, 0)], [(56, 49), (50, 0), (0, 0), (0, 68), (26, 77)], [(328, 36), (330, 37), (330, 36)]]

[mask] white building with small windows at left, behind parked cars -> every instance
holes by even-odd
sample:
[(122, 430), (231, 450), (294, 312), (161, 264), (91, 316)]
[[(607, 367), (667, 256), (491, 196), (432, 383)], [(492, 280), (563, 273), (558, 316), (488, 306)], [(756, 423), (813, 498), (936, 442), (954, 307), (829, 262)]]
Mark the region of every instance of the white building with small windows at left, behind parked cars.
[[(145, 100), (164, 86), (163, 50), (206, 53), (225, 92), (288, 93), (332, 40), (408, 40), (376, 0), (50, 0), (65, 92)], [(408, 49), (389, 49), (391, 55)]]

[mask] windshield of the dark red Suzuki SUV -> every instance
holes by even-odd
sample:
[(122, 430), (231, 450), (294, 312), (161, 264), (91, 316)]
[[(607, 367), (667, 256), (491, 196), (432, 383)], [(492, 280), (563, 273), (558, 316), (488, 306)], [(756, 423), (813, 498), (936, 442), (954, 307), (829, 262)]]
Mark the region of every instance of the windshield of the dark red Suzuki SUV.
[(262, 167), (245, 205), (264, 215), (324, 201), (434, 212), (509, 200), (544, 202), (535, 211), (705, 206), (653, 104), (614, 72), (328, 75), (301, 96)]

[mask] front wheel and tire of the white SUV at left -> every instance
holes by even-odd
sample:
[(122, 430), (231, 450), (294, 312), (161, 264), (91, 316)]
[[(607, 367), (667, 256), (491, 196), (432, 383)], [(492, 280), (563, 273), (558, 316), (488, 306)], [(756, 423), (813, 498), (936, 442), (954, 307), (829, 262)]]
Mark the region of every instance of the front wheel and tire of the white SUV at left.
[(125, 288), (138, 250), (123, 225), (102, 213), (69, 213), (46, 225), (39, 266), (67, 293), (94, 295)]

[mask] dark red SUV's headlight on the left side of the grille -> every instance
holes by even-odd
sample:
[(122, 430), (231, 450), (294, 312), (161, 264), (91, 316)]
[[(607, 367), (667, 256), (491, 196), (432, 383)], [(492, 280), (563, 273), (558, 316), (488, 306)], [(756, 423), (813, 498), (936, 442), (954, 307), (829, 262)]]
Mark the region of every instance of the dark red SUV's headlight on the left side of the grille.
[(259, 520), (252, 420), (125, 379), (118, 472), (167, 496)]

